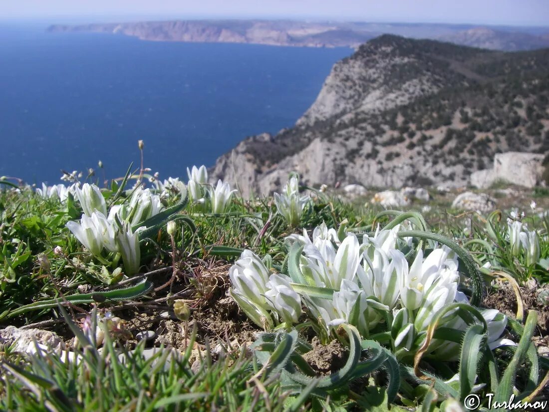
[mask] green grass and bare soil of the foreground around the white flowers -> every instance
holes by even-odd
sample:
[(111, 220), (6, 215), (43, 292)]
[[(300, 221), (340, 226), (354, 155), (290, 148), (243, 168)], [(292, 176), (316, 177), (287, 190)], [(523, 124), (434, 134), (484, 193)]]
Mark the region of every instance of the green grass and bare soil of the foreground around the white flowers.
[[(127, 204), (137, 177), (128, 174), (126, 180), (102, 188), (105, 202)], [(498, 399), (508, 397), (513, 387), (526, 399), (544, 394), (549, 362), (537, 356), (532, 338), (547, 331), (536, 329), (539, 314), (534, 311), (520, 313), (517, 320), (509, 317), (505, 336), (517, 347), (489, 350), (486, 322), (477, 309), (454, 303), (445, 310), (453, 308), (470, 319), (468, 329), (452, 335), (433, 321), (416, 336), (412, 347), (417, 353), (406, 354), (391, 343), (392, 332), (383, 326), (390, 325), (393, 314), (368, 336), (352, 325), (323, 335), (309, 313), (302, 314), (295, 326), (263, 331), (228, 294), (228, 270), (243, 249), (253, 250), (268, 268), (299, 276), (291, 261), (292, 253), (300, 252), (292, 252), (284, 240), (293, 233), (311, 233), (323, 222), (343, 235), (345, 230), (371, 232), (377, 224), (395, 222), (407, 225), (404, 230), (417, 230), (422, 229), (423, 218), (427, 237), (418, 235), (419, 242), (412, 247), (423, 248), (427, 255), (435, 246), (433, 239), (447, 239), (455, 250), (462, 250), (461, 287), (470, 297), (476, 292), (464, 275), (474, 277), (470, 270), (482, 266), (483, 293), (499, 276), (518, 290), (533, 278), (544, 288), (549, 282), (549, 219), (537, 212), (519, 218), (539, 237), (539, 253), (532, 261), (528, 248), (513, 251), (505, 211), (481, 216), (433, 207), (418, 217), (380, 213), (334, 193), (312, 191), (299, 227), (290, 227), (272, 197), (233, 196), (223, 213), (212, 214), (206, 192), (205, 203), (191, 199), (185, 204), (181, 194), (170, 195), (162, 198), (170, 213), (145, 220), (147, 229), (139, 236), (141, 269), (126, 276), (119, 252), (103, 249), (93, 256), (66, 228), (82, 214), (74, 196), (60, 202), (43, 198), (30, 187), (0, 183), (0, 324), (55, 330), (78, 359), (66, 361), (47, 349), (33, 355), (18, 353), (5, 346), (0, 353), (2, 410), (445, 410), (479, 383), (486, 385), (481, 394), (494, 391)], [(168, 221), (175, 222), (170, 232)], [(410, 261), (412, 252), (407, 255)], [(301, 286), (312, 290), (307, 289), (311, 285)], [(317, 292), (326, 293), (323, 288)], [(329, 293), (331, 297), (333, 291)], [(176, 327), (175, 352), (161, 347), (150, 355), (158, 341), (137, 342), (135, 335), (158, 326), (152, 319), (166, 310), (179, 320), (163, 318), (157, 330)], [(98, 314), (113, 316), (110, 313), (121, 318), (116, 326), (97, 320)], [(437, 314), (442, 319), (441, 312)], [(103, 328), (100, 348), (93, 333), (82, 331), (86, 316), (91, 330)], [(475, 316), (480, 321), (475, 322)], [(74, 336), (79, 344), (71, 348)], [(330, 364), (324, 372), (328, 375), (318, 374), (315, 361), (322, 349), (312, 346), (316, 337), (325, 343), (335, 339), (344, 348), (339, 363), (324, 359)], [(425, 352), (432, 339), (442, 337), (456, 345), (456, 359), (434, 361)]]

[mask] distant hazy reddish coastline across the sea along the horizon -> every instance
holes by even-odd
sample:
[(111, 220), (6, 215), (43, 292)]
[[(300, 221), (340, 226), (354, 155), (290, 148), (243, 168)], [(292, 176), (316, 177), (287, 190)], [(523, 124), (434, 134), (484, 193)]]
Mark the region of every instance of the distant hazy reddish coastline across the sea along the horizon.
[[(87, 25), (54, 25), (50, 32), (103, 32), (151, 41), (256, 43), (277, 46), (353, 47), (381, 34), (441, 39), (499, 50), (549, 47), (549, 38), (528, 27), (487, 27), (449, 24), (380, 24), (294, 20), (174, 20)], [(549, 28), (546, 30), (549, 34)]]

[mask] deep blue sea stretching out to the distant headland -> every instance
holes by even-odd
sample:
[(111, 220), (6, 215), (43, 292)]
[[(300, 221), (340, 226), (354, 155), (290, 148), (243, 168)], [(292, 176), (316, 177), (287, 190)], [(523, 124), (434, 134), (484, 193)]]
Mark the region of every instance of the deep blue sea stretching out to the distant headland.
[(140, 139), (146, 167), (186, 176), (292, 126), (351, 52), (0, 26), (0, 176), (55, 183), (101, 160), (117, 177), (137, 166)]

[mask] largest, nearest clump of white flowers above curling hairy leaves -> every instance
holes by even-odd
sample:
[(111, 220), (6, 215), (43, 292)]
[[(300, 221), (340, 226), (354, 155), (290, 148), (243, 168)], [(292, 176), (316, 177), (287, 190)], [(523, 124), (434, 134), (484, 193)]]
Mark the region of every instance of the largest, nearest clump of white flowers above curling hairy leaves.
[[(266, 329), (277, 321), (296, 323), (304, 304), (326, 334), (341, 324), (355, 326), (364, 337), (382, 328), (390, 332), (395, 350), (413, 354), (421, 344), (416, 338), (439, 311), (452, 303), (468, 304), (468, 299), (458, 290), (456, 254), (446, 246), (435, 247), (427, 256), (420, 249), (408, 265), (399, 247), (409, 241), (397, 237), (399, 229), (378, 229), (374, 236), (363, 236), (362, 242), (354, 233), (340, 240), (326, 225), (317, 227), (312, 239), (306, 231), (303, 236), (289, 236), (290, 244), (297, 242), (302, 248), (302, 285), (292, 283), (287, 275), (271, 273), (261, 259), (245, 250), (229, 271), (231, 295), (251, 320)], [(318, 288), (332, 291), (331, 299), (312, 292)], [(500, 339), (507, 318), (497, 311), (482, 314), (490, 347), (512, 344)], [(460, 331), (467, 327), (456, 311), (444, 315), (439, 326)], [(441, 339), (429, 346), (432, 356), (453, 357), (454, 352), (455, 346)]]

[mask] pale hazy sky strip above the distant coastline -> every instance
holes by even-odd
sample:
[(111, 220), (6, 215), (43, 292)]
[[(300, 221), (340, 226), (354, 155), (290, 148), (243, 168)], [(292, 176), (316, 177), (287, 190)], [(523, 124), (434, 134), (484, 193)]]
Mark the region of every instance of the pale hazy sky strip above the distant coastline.
[(0, 0), (0, 19), (311, 18), (549, 25), (549, 0)]

